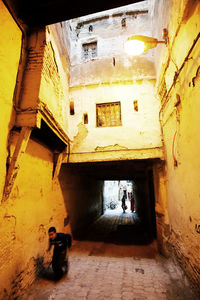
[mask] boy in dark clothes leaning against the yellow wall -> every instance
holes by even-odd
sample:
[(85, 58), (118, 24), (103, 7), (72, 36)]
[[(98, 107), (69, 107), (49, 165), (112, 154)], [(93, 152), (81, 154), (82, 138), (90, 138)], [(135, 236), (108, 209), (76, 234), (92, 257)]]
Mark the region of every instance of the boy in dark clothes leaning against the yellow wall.
[(64, 273), (68, 271), (67, 248), (71, 248), (72, 238), (70, 234), (57, 233), (55, 227), (50, 227), (49, 233), (49, 248), (53, 249), (52, 268), (55, 274), (55, 279), (59, 280)]

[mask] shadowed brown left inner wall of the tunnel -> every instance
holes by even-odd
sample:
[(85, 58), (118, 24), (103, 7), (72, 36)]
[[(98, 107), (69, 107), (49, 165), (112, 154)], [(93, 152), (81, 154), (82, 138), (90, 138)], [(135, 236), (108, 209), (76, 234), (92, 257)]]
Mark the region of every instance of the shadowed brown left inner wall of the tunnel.
[(103, 181), (67, 164), (62, 166), (59, 178), (70, 226), (77, 238), (103, 212)]

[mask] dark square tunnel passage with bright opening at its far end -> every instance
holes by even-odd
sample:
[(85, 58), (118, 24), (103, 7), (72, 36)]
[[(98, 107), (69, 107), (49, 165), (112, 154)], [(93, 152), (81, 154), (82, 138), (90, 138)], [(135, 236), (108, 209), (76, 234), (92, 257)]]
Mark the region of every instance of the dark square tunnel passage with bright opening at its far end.
[[(156, 238), (153, 160), (64, 164), (60, 182), (69, 222), (75, 240), (102, 241), (115, 244), (148, 244)], [(115, 209), (106, 209), (110, 195), (105, 184), (119, 184)], [(121, 197), (126, 190), (127, 210), (123, 213)], [(129, 187), (128, 187), (129, 188)], [(130, 193), (134, 196), (131, 211)], [(112, 197), (111, 197), (112, 198)], [(113, 199), (112, 199), (113, 200)], [(107, 203), (108, 206), (108, 203)]]

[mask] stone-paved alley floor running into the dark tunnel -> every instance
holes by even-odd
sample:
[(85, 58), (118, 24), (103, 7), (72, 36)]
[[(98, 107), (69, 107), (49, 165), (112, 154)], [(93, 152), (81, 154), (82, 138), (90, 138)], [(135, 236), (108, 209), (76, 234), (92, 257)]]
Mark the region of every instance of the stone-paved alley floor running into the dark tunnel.
[(134, 222), (131, 213), (100, 218), (85, 240), (73, 241), (68, 274), (57, 283), (40, 279), (23, 300), (197, 300), (180, 268), (158, 254), (155, 241), (122, 245), (92, 239)]

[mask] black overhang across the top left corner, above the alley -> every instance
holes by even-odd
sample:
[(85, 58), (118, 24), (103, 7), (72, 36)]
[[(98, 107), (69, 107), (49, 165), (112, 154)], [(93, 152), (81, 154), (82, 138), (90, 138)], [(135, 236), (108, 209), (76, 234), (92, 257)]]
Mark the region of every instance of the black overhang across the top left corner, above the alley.
[(143, 0), (4, 0), (29, 26), (49, 25), (137, 2)]

